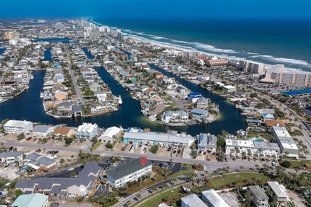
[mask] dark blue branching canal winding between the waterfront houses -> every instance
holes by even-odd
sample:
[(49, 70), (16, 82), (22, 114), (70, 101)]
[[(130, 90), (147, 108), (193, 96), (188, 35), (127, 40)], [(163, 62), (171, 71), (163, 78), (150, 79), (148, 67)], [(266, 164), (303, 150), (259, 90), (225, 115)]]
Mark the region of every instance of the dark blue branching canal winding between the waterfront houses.
[[(87, 51), (87, 50), (86, 50)], [(88, 51), (87, 51), (88, 52)], [(88, 55), (88, 54), (87, 54)], [(50, 55), (51, 56), (51, 55)], [(49, 59), (48, 53), (45, 59)], [(157, 68), (165, 75), (174, 76), (166, 71)], [(191, 91), (200, 92), (203, 96), (209, 97), (213, 102), (219, 104), (221, 115), (217, 121), (209, 125), (194, 125), (187, 127), (168, 127), (155, 124), (148, 118), (145, 118), (140, 112), (140, 104), (134, 100), (127, 91), (114, 80), (104, 67), (95, 67), (99, 76), (110, 87), (112, 93), (116, 96), (121, 95), (123, 104), (119, 106), (119, 111), (106, 113), (98, 116), (91, 117), (79, 117), (71, 119), (56, 119), (45, 113), (42, 106), (42, 100), (39, 97), (40, 91), (42, 91), (42, 85), (44, 81), (45, 71), (35, 71), (33, 73), (35, 79), (31, 80), (30, 88), (25, 90), (19, 96), (16, 96), (2, 104), (0, 104), (0, 120), (5, 118), (17, 119), (17, 120), (29, 120), (32, 122), (41, 122), (42, 124), (60, 124), (66, 123), (68, 126), (79, 126), (82, 122), (97, 123), (100, 127), (111, 127), (121, 125), (122, 127), (149, 127), (153, 131), (167, 131), (168, 129), (174, 129), (181, 131), (187, 131), (191, 135), (199, 134), (200, 132), (210, 132), (213, 134), (220, 134), (223, 129), (230, 133), (236, 132), (238, 129), (246, 128), (245, 119), (235, 109), (234, 105), (226, 99), (215, 96), (205, 89), (192, 84), (186, 80), (175, 77), (180, 83), (185, 85)]]

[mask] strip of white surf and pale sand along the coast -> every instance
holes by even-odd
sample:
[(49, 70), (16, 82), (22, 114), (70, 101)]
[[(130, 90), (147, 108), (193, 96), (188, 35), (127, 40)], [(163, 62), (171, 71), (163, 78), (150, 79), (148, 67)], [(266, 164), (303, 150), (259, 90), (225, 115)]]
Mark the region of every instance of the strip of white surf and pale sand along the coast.
[[(88, 19), (88, 21), (94, 23), (95, 25), (103, 25), (99, 22), (96, 22), (94, 21), (93, 19)], [(110, 26), (111, 28), (117, 28), (117, 27), (114, 27), (114, 26)], [(111, 29), (111, 31), (115, 32), (115, 29)], [(124, 32), (126, 33), (127, 31), (130, 31), (130, 32), (135, 32), (135, 31), (131, 31), (129, 29), (124, 29)], [(138, 34), (145, 34), (144, 32), (137, 32)], [(167, 42), (162, 42), (162, 41), (158, 41), (158, 40), (151, 40), (151, 39), (148, 39), (147, 37), (141, 37), (141, 36), (138, 36), (138, 35), (135, 35), (135, 34), (129, 34), (127, 33), (130, 38), (132, 39), (135, 39), (135, 40), (139, 40), (139, 41), (144, 41), (144, 42), (147, 42), (147, 43), (150, 43), (150, 44), (154, 44), (156, 46), (160, 46), (160, 47), (163, 47), (163, 48), (168, 48), (168, 49), (176, 49), (176, 50), (180, 50), (180, 51), (199, 51), (201, 52), (202, 55), (208, 55), (208, 56), (216, 56), (216, 57), (220, 57), (220, 58), (225, 58), (227, 60), (246, 60), (246, 61), (249, 61), (249, 62), (252, 62), (252, 63), (257, 63), (257, 64), (264, 64), (262, 62), (258, 62), (258, 61), (252, 61), (252, 60), (249, 60), (247, 58), (241, 58), (241, 57), (236, 57), (236, 56), (232, 56), (232, 55), (224, 55), (224, 54), (215, 54), (215, 53), (211, 53), (211, 52), (205, 52), (205, 51), (202, 51), (200, 49), (196, 49), (196, 48), (192, 48), (190, 46), (181, 46), (181, 45), (178, 45), (176, 43), (167, 43)], [(155, 36), (155, 37), (158, 37), (156, 35), (153, 35), (153, 34), (146, 34), (148, 36)], [(161, 37), (161, 39), (170, 39), (170, 38), (166, 38), (166, 37)], [(195, 43), (195, 42), (185, 42), (185, 41), (181, 41), (181, 40), (175, 40), (176, 42), (181, 42), (181, 43)], [(198, 42), (196, 42), (198, 43)], [(198, 43), (198, 44), (201, 44), (201, 43)], [(202, 43), (203, 44), (203, 43)], [(230, 51), (229, 53), (231, 54), (235, 54), (235, 53), (239, 53), (238, 51), (235, 51), (233, 49), (222, 49), (222, 48), (215, 48), (214, 46), (212, 45), (207, 45), (207, 44), (203, 44), (203, 45), (206, 45), (207, 48), (211, 48), (211, 49), (219, 49), (219, 50), (223, 50), (224, 53), (226, 51)], [(221, 52), (221, 51), (219, 51)], [(245, 52), (245, 51), (242, 51), (242, 52)], [(259, 53), (256, 53), (256, 52), (245, 52), (245, 53), (248, 53), (248, 54), (253, 54), (253, 55), (259, 55), (261, 57), (265, 57), (265, 58), (272, 58), (273, 56), (271, 55), (261, 55)], [(304, 60), (298, 60), (298, 59), (290, 59), (290, 58), (282, 58), (282, 57), (273, 57), (275, 59), (278, 59), (278, 62), (275, 62), (275, 64), (296, 64), (294, 62), (303, 62), (302, 65), (307, 65), (307, 64), (310, 64), (308, 63), (307, 61), (304, 61)], [(280, 61), (281, 60), (281, 61)], [(291, 62), (292, 61), (292, 62)], [(274, 62), (274, 61), (270, 61), (270, 62)], [(272, 65), (275, 65), (275, 64), (264, 64), (265, 65), (265, 69), (269, 69)], [(289, 67), (284, 67), (284, 71), (299, 71), (299, 72), (309, 72), (309, 71), (305, 71), (305, 70), (302, 70), (300, 68), (289, 68)]]

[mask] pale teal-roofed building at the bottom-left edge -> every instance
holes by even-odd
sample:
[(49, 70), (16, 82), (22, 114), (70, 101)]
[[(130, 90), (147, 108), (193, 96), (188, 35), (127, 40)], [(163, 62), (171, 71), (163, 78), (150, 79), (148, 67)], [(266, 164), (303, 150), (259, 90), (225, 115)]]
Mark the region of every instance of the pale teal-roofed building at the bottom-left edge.
[(11, 207), (48, 207), (49, 206), (49, 196), (34, 193), (19, 195)]

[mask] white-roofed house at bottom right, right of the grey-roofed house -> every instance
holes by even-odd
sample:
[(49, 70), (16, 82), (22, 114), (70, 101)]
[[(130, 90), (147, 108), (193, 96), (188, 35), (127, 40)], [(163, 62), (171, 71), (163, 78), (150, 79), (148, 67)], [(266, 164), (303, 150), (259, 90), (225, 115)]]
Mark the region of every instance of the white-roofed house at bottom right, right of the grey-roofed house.
[(290, 202), (291, 199), (286, 192), (286, 188), (279, 184), (277, 181), (268, 181), (268, 188), (273, 192), (272, 201), (286, 206), (287, 202)]

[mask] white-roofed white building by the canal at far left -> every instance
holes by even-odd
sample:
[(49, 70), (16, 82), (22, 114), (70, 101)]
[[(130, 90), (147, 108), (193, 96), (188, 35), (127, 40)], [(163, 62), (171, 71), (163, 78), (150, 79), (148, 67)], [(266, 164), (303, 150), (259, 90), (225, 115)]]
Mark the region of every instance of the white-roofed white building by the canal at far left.
[(6, 133), (29, 133), (34, 129), (33, 123), (28, 121), (9, 120), (3, 125)]

